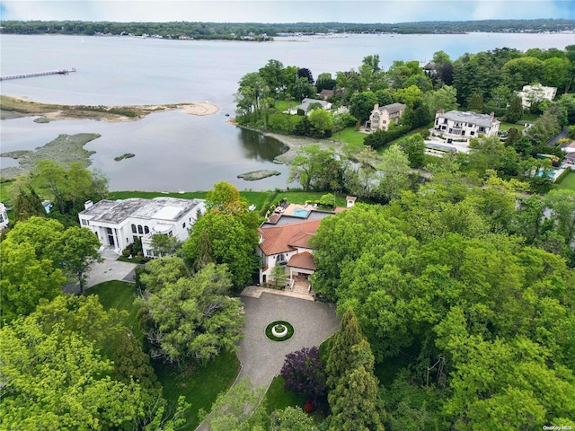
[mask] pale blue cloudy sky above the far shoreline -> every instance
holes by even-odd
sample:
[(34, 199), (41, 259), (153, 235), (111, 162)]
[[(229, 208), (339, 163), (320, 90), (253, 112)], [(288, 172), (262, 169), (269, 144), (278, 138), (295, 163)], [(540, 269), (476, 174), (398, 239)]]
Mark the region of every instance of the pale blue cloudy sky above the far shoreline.
[(574, 0), (0, 0), (3, 21), (420, 22), (575, 19)]

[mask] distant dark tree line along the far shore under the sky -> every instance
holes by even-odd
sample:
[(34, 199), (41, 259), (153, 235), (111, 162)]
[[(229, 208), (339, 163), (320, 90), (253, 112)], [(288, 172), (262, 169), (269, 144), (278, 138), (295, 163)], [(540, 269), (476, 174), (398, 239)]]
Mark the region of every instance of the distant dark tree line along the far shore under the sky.
[(193, 38), (234, 40), (266, 34), (274, 37), (282, 33), (380, 33), (448, 34), (486, 31), (500, 33), (570, 31), (575, 20), (483, 20), (461, 22), (399, 22), (399, 23), (349, 23), (349, 22), (82, 22), (82, 21), (5, 21), (2, 33), (6, 34), (143, 34), (159, 35), (167, 39)]

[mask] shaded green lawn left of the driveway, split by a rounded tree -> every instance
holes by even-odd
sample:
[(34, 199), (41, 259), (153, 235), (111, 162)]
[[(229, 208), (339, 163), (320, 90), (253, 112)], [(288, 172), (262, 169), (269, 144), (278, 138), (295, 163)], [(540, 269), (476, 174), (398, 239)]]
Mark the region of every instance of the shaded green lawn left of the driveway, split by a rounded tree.
[[(109, 281), (93, 286), (87, 290), (87, 295), (98, 295), (106, 310), (126, 310), (129, 314), (124, 324), (131, 328), (135, 335), (143, 339), (143, 334), (137, 325), (137, 307), (134, 306), (136, 286), (124, 281)], [(193, 430), (199, 425), (198, 411), (209, 411), (216, 400), (217, 394), (226, 391), (239, 372), (240, 362), (234, 353), (223, 352), (206, 366), (188, 367), (176, 370), (154, 363), (155, 374), (164, 388), (164, 398), (170, 405), (175, 405), (178, 397), (183, 395), (191, 404), (188, 411), (188, 425), (185, 429)]]

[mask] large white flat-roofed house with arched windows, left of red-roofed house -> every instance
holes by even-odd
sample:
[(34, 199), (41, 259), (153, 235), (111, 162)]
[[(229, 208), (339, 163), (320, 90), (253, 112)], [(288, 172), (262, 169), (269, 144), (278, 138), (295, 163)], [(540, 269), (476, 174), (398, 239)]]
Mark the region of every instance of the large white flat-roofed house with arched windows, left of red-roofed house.
[(142, 241), (144, 256), (152, 257), (152, 235), (188, 239), (188, 229), (206, 210), (203, 199), (128, 198), (88, 201), (78, 218), (83, 227), (92, 230), (105, 247), (120, 252), (136, 241)]

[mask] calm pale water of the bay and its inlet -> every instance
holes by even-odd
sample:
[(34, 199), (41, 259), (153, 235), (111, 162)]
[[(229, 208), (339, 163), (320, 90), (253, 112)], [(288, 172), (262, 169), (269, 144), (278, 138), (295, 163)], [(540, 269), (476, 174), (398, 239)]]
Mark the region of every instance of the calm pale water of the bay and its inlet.
[[(205, 117), (165, 112), (128, 123), (4, 120), (0, 143), (2, 151), (33, 149), (61, 133), (99, 133), (102, 137), (85, 148), (96, 151), (93, 166), (110, 177), (111, 189), (210, 189), (218, 180), (240, 189), (285, 187), (288, 168), (272, 163), (284, 151), (282, 145), (226, 124), (226, 114), (234, 115), (238, 81), (270, 58), (284, 66), (308, 67), (317, 76), (357, 68), (372, 54), (378, 54), (387, 68), (396, 59), (429, 61), (440, 49), (456, 59), (465, 52), (493, 48), (564, 48), (573, 43), (573, 34), (349, 35), (272, 43), (2, 35), (0, 75), (77, 70), (65, 76), (4, 81), (3, 94), (87, 105), (209, 101), (220, 111)], [(136, 157), (113, 160), (124, 153)], [(5, 158), (0, 163), (15, 164)], [(282, 175), (259, 181), (236, 178), (260, 169)]]

